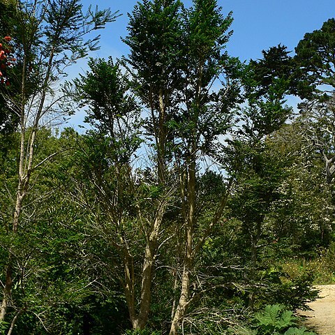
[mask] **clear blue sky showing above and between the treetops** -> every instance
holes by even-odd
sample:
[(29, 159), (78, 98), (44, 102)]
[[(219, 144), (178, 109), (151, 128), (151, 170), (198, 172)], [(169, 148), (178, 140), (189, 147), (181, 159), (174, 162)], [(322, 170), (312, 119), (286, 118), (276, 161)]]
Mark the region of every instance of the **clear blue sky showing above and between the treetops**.
[[(101, 49), (91, 57), (113, 58), (128, 53), (120, 37), (127, 34), (128, 16), (137, 3), (135, 0), (103, 1), (83, 0), (84, 8), (90, 4), (98, 8), (110, 7), (112, 12), (119, 10), (122, 14), (116, 22), (99, 31)], [(185, 6), (191, 6), (191, 0), (184, 0)], [(288, 46), (294, 51), (295, 46), (304, 34), (320, 29), (322, 23), (335, 17), (335, 0), (218, 0), (223, 14), (233, 12), (234, 22), (231, 29), (234, 34), (227, 45), (228, 53), (239, 57), (242, 61), (262, 57), (262, 50), (278, 45)], [(70, 76), (83, 73), (87, 69), (87, 61), (80, 61), (70, 69)], [(289, 101), (292, 105), (295, 100)], [(71, 118), (70, 124), (81, 123), (82, 112)]]

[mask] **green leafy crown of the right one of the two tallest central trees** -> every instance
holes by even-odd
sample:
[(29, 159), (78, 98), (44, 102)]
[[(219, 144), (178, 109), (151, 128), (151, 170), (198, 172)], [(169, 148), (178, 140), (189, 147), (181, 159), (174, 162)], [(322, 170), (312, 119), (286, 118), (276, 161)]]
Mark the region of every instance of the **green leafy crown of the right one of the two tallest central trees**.
[[(233, 108), (239, 101), (235, 80), (239, 61), (224, 52), (232, 32), (232, 13), (224, 17), (217, 1), (194, 1), (184, 10), (183, 34), (184, 87), (181, 94), (185, 107), (174, 114), (170, 127), (177, 137), (182, 153), (214, 154), (220, 135), (227, 133)], [(211, 84), (218, 78), (222, 87), (217, 92)], [(192, 147), (195, 145), (196, 147)], [(180, 156), (180, 155), (179, 155)]]

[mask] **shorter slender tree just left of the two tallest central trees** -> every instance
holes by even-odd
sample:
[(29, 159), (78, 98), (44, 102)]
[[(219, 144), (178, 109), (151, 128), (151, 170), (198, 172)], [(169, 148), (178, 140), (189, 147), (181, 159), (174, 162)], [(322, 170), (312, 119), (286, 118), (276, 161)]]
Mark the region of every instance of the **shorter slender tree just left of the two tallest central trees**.
[[(149, 306), (142, 295), (136, 295), (139, 269), (133, 254), (141, 252), (135, 252), (134, 248), (143, 233), (142, 238), (146, 239), (147, 231), (142, 232), (138, 226), (139, 220), (146, 218), (142, 218), (143, 200), (137, 198), (139, 185), (135, 184), (136, 176), (131, 166), (142, 142), (140, 109), (129, 91), (130, 82), (126, 75), (122, 75), (118, 63), (114, 65), (112, 59), (91, 59), (89, 66), (91, 70), (75, 84), (78, 100), (89, 107), (86, 119), (95, 131), (88, 133), (81, 145), (77, 159), (80, 173), (73, 176), (78, 185), (71, 198), (78, 201), (76, 194), (80, 195), (95, 218), (96, 238), (105, 241), (121, 259), (123, 267), (114, 263), (108, 266), (114, 267), (114, 274), (124, 289), (133, 327), (141, 329), (147, 322)], [(82, 174), (84, 181), (80, 181)], [(142, 181), (138, 179), (137, 182)], [(91, 198), (86, 193), (91, 194)], [(137, 301), (142, 310), (138, 315)]]

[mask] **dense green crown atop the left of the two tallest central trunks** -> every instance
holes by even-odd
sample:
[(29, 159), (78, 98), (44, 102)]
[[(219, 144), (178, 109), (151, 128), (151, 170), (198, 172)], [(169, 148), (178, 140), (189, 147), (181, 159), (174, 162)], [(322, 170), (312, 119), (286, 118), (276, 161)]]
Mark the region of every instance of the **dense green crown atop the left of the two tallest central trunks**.
[[(159, 89), (167, 94), (172, 106), (172, 93), (180, 84), (181, 1), (144, 0), (129, 15), (129, 35), (124, 43), (130, 47), (128, 63), (135, 70), (135, 91), (148, 107), (158, 105)], [(145, 98), (154, 89), (150, 105)]]

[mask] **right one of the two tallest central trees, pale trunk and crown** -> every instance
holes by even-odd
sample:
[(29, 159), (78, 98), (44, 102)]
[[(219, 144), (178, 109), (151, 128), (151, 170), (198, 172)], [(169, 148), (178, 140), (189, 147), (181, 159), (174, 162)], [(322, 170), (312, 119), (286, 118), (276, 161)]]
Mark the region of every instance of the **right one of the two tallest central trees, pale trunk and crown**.
[[(193, 1), (193, 7), (184, 10), (184, 84), (181, 88), (181, 108), (172, 124), (176, 138), (175, 159), (179, 166), (181, 216), (184, 221), (184, 234), (181, 235), (184, 256), (179, 274), (180, 291), (176, 308), (172, 310), (171, 335), (178, 333), (179, 325), (193, 300), (189, 291), (195, 259), (211, 229), (221, 220), (227, 200), (226, 193), (219, 195), (221, 202), (213, 216), (204, 223), (204, 230), (197, 230), (198, 163), (201, 157), (211, 156), (220, 136), (228, 130), (232, 107), (239, 94), (233, 76), (230, 76), (236, 60), (223, 52), (231, 35), (228, 32), (231, 23), (231, 14), (224, 17), (217, 1)], [(218, 91), (213, 89), (215, 82), (221, 82), (223, 86)]]

